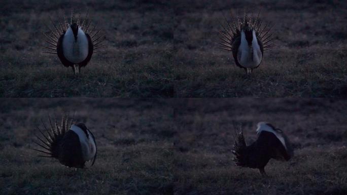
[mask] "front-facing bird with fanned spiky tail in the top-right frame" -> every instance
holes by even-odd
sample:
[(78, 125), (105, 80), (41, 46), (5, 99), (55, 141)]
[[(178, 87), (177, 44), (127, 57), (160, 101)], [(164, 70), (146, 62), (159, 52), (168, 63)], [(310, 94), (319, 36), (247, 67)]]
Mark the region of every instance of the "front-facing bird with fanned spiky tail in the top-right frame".
[(231, 22), (224, 17), (227, 27), (221, 24), (223, 30), (219, 31), (219, 48), (231, 51), (236, 66), (244, 69), (247, 75), (259, 67), (264, 51), (275, 47), (270, 32), (273, 26), (262, 25), (259, 15), (260, 10), (257, 17), (253, 14), (249, 17), (245, 11), (243, 20), (237, 16), (232, 17)]

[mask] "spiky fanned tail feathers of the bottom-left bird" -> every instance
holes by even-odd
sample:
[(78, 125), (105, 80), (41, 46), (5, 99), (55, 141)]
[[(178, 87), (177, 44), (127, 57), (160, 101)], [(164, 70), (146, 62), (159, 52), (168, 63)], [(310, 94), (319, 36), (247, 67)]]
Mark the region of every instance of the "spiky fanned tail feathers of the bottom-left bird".
[[(75, 114), (74, 114), (75, 115)], [(45, 155), (38, 155), (40, 157), (57, 158), (58, 157), (58, 147), (61, 139), (64, 137), (65, 133), (69, 130), (69, 126), (72, 125), (74, 117), (69, 119), (67, 114), (64, 114), (61, 118), (61, 124), (58, 125), (56, 118), (51, 118), (49, 115), (50, 126), (47, 128), (45, 123), (42, 121), (46, 134), (38, 127), (42, 138), (36, 135), (40, 142), (34, 141), (41, 150), (33, 149), (39, 151)], [(52, 123), (53, 120), (53, 123)], [(44, 149), (44, 150), (42, 150)]]

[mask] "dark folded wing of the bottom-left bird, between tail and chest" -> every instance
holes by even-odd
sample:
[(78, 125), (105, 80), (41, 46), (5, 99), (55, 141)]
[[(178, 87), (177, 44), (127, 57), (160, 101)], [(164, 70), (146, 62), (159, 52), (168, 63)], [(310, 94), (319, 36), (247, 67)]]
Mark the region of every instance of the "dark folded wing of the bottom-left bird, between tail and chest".
[(78, 135), (69, 130), (61, 141), (59, 147), (59, 161), (67, 167), (83, 168), (83, 160), (80, 139)]

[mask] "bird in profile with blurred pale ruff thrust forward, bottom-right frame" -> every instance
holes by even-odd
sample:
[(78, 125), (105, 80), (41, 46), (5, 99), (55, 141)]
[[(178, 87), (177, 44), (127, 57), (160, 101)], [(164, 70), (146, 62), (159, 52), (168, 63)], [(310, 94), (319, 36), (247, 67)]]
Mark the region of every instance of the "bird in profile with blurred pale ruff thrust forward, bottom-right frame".
[(288, 161), (293, 157), (292, 145), (281, 129), (267, 122), (259, 122), (257, 135), (257, 140), (249, 145), (243, 132), (237, 133), (232, 150), (236, 166), (259, 169), (259, 173), (266, 176), (264, 168), (271, 158)]

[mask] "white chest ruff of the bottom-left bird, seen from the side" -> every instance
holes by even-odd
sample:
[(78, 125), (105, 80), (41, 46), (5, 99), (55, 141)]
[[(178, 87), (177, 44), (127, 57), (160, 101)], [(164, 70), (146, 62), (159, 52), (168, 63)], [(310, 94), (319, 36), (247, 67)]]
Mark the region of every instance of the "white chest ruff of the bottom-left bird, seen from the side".
[(89, 133), (89, 130), (87, 130), (89, 134), (89, 138), (87, 138), (86, 134), (80, 127), (73, 124), (71, 125), (70, 129), (74, 131), (79, 137), (83, 159), (85, 161), (92, 159), (96, 154), (96, 146), (91, 134)]

